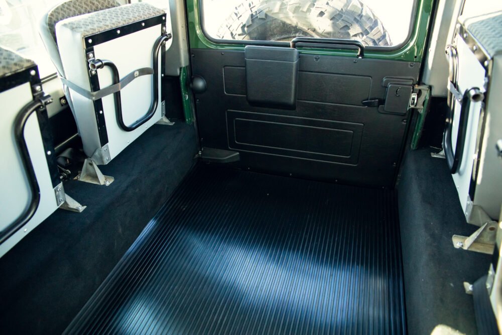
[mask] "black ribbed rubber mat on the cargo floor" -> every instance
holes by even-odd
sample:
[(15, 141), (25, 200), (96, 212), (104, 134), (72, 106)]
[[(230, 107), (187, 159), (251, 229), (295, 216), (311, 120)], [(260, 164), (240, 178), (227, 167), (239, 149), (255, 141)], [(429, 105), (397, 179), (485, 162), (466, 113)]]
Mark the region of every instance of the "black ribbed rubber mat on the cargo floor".
[(200, 164), (66, 332), (405, 333), (395, 194)]

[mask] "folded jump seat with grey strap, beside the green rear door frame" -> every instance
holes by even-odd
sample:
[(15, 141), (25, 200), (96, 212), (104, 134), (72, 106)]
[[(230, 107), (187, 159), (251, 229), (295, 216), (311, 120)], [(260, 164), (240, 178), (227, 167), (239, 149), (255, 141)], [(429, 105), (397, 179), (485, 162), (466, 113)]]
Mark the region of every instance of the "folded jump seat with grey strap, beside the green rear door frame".
[[(165, 118), (164, 51), (169, 13), (146, 3), (70, 0), (43, 19), (41, 36), (58, 69), (83, 149), (80, 180), (109, 185), (96, 165)], [(64, 13), (64, 14), (63, 14)]]

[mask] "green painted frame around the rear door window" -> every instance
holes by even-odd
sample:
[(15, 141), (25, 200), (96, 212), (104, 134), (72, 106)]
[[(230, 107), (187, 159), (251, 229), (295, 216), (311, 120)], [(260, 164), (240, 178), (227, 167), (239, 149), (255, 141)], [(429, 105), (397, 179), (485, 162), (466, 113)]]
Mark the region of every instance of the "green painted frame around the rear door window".
[[(203, 33), (200, 21), (200, 0), (186, 0), (188, 12), (189, 42), (192, 49), (243, 50), (243, 44), (223, 44), (210, 41)], [(381, 48), (365, 51), (365, 58), (421, 62), (427, 40), (427, 31), (433, 8), (433, 0), (416, 1), (415, 22), (409, 40), (400, 48)], [(287, 42), (284, 42), (288, 45)], [(316, 55), (354, 56), (353, 51), (301, 48), (301, 53)]]

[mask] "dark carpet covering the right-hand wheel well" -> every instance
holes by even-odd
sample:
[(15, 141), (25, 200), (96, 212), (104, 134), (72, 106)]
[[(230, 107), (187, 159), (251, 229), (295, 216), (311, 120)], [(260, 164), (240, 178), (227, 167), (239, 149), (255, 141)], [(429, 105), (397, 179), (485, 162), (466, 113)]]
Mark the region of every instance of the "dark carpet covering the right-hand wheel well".
[(407, 153), (398, 187), (408, 331), (430, 334), (443, 324), (475, 334), (463, 282), (486, 274), (490, 256), (453, 247), (452, 235), (469, 236), (477, 227), (465, 221), (446, 161), (430, 152)]

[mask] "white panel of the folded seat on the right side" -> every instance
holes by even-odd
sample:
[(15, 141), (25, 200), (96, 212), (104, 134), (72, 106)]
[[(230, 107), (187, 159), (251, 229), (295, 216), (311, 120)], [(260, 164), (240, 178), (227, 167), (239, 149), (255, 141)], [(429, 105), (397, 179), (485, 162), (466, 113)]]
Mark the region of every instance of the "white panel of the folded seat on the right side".
[[(476, 59), (474, 54), (469, 50), (469, 47), (461, 38), (457, 38), (457, 53), (458, 53), (458, 90), (463, 94), (466, 90), (477, 87), (484, 91), (484, 76), (485, 70)], [(452, 128), (452, 147), (456, 148), (458, 122), (460, 118), (461, 102), (455, 101), (455, 115), (453, 118)], [(472, 175), (472, 167), (475, 160), (476, 142), (479, 125), (479, 115), (481, 111), (481, 102), (471, 103), (469, 110), (467, 134), (465, 138), (464, 152), (462, 162), (458, 173), (453, 175), (453, 181), (457, 187), (458, 197), (464, 213), (467, 214), (467, 203), (469, 199), (469, 187)]]

